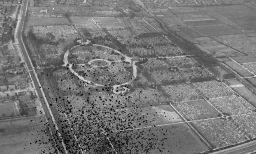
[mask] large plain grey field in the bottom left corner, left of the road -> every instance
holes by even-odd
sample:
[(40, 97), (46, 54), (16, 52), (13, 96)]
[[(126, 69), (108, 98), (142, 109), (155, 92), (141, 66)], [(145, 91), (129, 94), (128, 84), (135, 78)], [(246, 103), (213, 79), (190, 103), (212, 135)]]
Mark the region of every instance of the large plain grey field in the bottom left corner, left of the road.
[[(2, 154), (54, 153), (49, 131), (43, 117), (0, 122)], [(45, 133), (47, 131), (48, 133)], [(56, 152), (56, 151), (55, 151)]]

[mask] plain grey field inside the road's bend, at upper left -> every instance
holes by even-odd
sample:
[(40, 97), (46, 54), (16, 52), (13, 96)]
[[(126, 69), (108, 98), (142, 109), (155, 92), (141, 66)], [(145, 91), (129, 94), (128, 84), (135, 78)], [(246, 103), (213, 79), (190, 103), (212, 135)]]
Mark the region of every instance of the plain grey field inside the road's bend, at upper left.
[(67, 18), (37, 18), (37, 17), (30, 17), (28, 18), (27, 27), (30, 26), (49, 26), (55, 24), (70, 24)]

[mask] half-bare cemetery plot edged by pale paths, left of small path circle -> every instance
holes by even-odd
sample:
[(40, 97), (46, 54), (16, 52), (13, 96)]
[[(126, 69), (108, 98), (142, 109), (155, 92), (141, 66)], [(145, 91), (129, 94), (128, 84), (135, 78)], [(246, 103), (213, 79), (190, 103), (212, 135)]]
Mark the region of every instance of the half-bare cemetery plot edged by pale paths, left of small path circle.
[(189, 121), (215, 118), (219, 115), (206, 100), (173, 103), (175, 108)]

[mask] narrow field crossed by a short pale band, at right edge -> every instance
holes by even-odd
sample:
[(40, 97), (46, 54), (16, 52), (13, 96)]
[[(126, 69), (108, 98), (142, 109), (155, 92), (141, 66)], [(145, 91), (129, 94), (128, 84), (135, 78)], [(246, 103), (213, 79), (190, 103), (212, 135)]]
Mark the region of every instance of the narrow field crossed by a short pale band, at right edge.
[(256, 107), (256, 95), (250, 91), (250, 89), (246, 88), (239, 82), (237, 79), (226, 80), (225, 81), (230, 88), (232, 88), (235, 92), (237, 92), (241, 97), (244, 97), (245, 100), (253, 104)]

